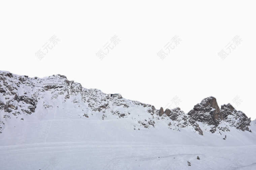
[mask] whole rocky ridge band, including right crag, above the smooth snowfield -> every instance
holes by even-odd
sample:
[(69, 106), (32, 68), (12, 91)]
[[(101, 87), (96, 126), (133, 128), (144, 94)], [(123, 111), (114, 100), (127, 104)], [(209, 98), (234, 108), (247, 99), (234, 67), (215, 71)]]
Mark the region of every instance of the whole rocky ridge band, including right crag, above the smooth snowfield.
[[(163, 120), (169, 129), (188, 128), (200, 135), (204, 131), (221, 134), (230, 131), (232, 127), (252, 132), (249, 128), (250, 118), (242, 111), (236, 111), (230, 103), (221, 105), (220, 109), (213, 96), (204, 98), (186, 114), (180, 108), (157, 110), (151, 104), (125, 99), (121, 95), (111, 97), (99, 89), (86, 89), (80, 83), (69, 81), (60, 74), (30, 78), (0, 71), (0, 133), (8, 119), (19, 117), (23, 121), (23, 114), (43, 117), (42, 115), (52, 112), (53, 108), (60, 107), (57, 101), (74, 104), (74, 108), (79, 108), (74, 111), (75, 114), (83, 118), (99, 114), (100, 119), (104, 120), (109, 115), (128, 118), (137, 112), (143, 113), (147, 115), (147, 119), (137, 118), (136, 124), (148, 129), (154, 128), (156, 121)], [(133, 116), (131, 118), (135, 119)]]

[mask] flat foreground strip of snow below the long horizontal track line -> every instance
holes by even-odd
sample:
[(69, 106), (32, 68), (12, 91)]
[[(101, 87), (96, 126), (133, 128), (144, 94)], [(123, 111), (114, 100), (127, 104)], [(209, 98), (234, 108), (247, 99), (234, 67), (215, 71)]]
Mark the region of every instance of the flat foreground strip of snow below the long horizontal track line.
[(2, 146), (0, 150), (1, 169), (256, 168), (255, 145), (208, 147), (150, 142), (57, 142)]

